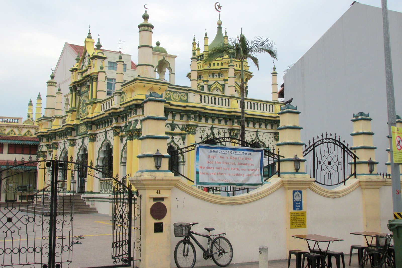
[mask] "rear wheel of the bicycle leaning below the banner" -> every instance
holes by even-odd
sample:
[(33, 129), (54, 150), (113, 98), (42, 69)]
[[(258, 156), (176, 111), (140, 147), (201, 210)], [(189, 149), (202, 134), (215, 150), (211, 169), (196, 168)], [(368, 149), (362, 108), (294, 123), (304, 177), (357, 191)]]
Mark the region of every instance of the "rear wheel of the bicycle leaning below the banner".
[(212, 260), (217, 266), (228, 266), (233, 258), (232, 244), (229, 242), (228, 239), (226, 239), (226, 237), (218, 236), (212, 240), (211, 254), (213, 254)]

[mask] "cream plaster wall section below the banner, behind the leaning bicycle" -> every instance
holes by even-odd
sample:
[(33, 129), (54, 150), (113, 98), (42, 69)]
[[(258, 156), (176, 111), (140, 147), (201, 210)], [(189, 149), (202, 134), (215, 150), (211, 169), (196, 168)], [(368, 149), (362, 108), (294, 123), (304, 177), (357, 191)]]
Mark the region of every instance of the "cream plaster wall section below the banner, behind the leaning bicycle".
[[(268, 247), (269, 259), (285, 259), (286, 233), (285, 223), (285, 190), (280, 188), (269, 196), (249, 204), (236, 206), (212, 204), (199, 200), (189, 194), (172, 189), (171, 203), (171, 267), (174, 264), (174, 247), (180, 237), (174, 237), (173, 223), (198, 222), (192, 230), (207, 234), (204, 227), (214, 227), (212, 233), (227, 232), (226, 237), (233, 246), (232, 263), (258, 261), (258, 247)], [(199, 237), (196, 237), (197, 239)], [(205, 247), (207, 239), (198, 239)], [(196, 266), (214, 265), (211, 260), (204, 260), (197, 245)]]

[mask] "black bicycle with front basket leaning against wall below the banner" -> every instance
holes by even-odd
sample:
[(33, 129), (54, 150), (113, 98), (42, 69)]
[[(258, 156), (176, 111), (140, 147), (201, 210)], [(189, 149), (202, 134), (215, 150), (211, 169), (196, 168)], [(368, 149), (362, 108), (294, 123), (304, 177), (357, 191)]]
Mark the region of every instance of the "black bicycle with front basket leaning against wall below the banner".
[[(184, 237), (184, 239), (180, 240), (174, 248), (174, 262), (176, 263), (177, 268), (193, 268), (195, 265), (197, 253), (195, 252), (195, 247), (190, 241), (190, 238), (192, 238), (203, 251), (202, 256), (205, 260), (212, 258), (217, 266), (228, 266), (230, 262), (232, 262), (233, 247), (229, 240), (222, 236), (226, 233), (211, 235), (211, 231), (215, 230), (215, 228), (207, 227), (204, 229), (208, 231), (208, 235), (196, 233), (191, 231), (191, 227), (196, 224), (198, 223), (173, 224), (174, 236)], [(204, 249), (194, 235), (208, 238), (207, 249)]]

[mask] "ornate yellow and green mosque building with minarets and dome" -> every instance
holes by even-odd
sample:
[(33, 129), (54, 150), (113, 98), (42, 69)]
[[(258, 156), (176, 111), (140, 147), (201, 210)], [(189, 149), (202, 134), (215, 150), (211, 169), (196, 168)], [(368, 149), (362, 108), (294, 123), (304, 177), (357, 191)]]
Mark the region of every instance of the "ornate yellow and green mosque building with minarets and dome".
[[(222, 33), (220, 15), (215, 38), (209, 42), (205, 33), (202, 51), (193, 39), (189, 49), (191, 71), (187, 75), (190, 87), (174, 85), (176, 56), (168, 54), (159, 41), (152, 39), (154, 25), (147, 11), (142, 19), (138, 25), (136, 65), (128, 54), (101, 49), (100, 39), (96, 42), (89, 31), (81, 53), (69, 70), (71, 79), (66, 92), (60, 89), (63, 81), (55, 80), (52, 72), (47, 81), (45, 114), (37, 113), (35, 118), (39, 126), (35, 135), (40, 142), (40, 159), (57, 157), (85, 163), (110, 177), (121, 178), (143, 171), (137, 158), (139, 145), (147, 142), (144, 136), (157, 133), (142, 128), (146, 120), (144, 100), (151, 92), (162, 94), (165, 100), (166, 136), (162, 138), (168, 145), (159, 148), (163, 155), (211, 138), (240, 138), (240, 61), (223, 57), (211, 64), (203, 62), (211, 47), (228, 41), (227, 32)], [(117, 59), (113, 59), (111, 53), (117, 55)], [(109, 68), (111, 65), (115, 66), (115, 74)], [(243, 67), (247, 89), (252, 72), (247, 62)], [(109, 73), (115, 77), (112, 91), (107, 84), (112, 77)], [(275, 66), (271, 74), (272, 91), (261, 92), (261, 95), (272, 94), (272, 101), (251, 99), (247, 95), (245, 99), (246, 141), (264, 148), (273, 148), (278, 140), (277, 112), (283, 106), (278, 101)], [(190, 159), (172, 157), (170, 162), (181, 174), (193, 177)], [(78, 175), (76, 178), (67, 176), (65, 180), (68, 192), (101, 192), (100, 186), (90, 178)], [(40, 183), (38, 189), (43, 188)]]

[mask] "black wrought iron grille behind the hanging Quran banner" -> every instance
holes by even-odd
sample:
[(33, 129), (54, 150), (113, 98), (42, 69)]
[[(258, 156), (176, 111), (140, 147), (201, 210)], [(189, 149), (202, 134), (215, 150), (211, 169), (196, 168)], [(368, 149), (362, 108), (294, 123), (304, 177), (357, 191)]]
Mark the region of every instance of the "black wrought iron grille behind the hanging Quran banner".
[[(222, 145), (222, 146), (243, 146), (243, 147), (251, 147), (251, 148), (258, 148), (258, 144), (256, 143), (250, 143), (246, 142), (244, 140), (240, 140), (238, 138), (231, 138), (231, 137), (219, 137), (219, 138), (211, 138), (208, 140), (204, 140), (202, 142), (199, 142), (198, 144), (212, 144), (212, 145)], [(190, 172), (191, 172), (191, 154), (190, 152), (195, 150), (195, 147), (197, 144), (191, 144), (190, 146), (186, 146), (183, 148), (179, 148), (176, 150), (168, 150), (168, 154), (170, 155), (169, 158), (169, 170), (172, 171), (176, 176), (181, 176), (189, 181), (194, 182), (192, 179), (190, 179), (189, 175), (185, 175), (184, 171), (180, 171), (178, 168), (178, 161), (179, 157), (182, 158), (182, 163), (185, 161), (189, 161), (190, 163)], [(274, 150), (273, 150), (274, 151)], [(264, 159), (265, 161), (265, 167), (264, 167), (264, 173), (265, 173), (265, 179), (269, 179), (273, 175), (277, 174), (279, 177), (281, 176), (281, 165), (279, 158), (283, 157), (279, 155), (279, 150), (277, 151), (278, 154), (275, 154), (273, 151), (270, 149), (265, 149), (264, 150)], [(228, 187), (229, 189), (225, 190), (221, 187), (203, 187), (207, 189), (208, 191), (212, 192), (232, 192), (234, 195), (235, 192), (239, 191), (246, 191), (248, 192), (250, 188), (244, 188), (244, 187)]]

